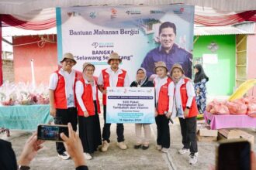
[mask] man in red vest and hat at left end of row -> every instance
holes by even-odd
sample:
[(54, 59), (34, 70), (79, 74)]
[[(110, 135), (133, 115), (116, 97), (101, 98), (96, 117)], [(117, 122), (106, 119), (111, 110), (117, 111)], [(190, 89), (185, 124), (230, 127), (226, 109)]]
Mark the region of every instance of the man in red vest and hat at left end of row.
[[(62, 68), (50, 75), (49, 84), (50, 115), (54, 117), (54, 123), (70, 122), (74, 131), (77, 130), (78, 124), (78, 113), (74, 101), (74, 84), (78, 80), (78, 74), (72, 70), (75, 64), (74, 56), (71, 53), (65, 53), (61, 60)], [(64, 160), (70, 158), (62, 142), (56, 142), (56, 148), (59, 157)]]

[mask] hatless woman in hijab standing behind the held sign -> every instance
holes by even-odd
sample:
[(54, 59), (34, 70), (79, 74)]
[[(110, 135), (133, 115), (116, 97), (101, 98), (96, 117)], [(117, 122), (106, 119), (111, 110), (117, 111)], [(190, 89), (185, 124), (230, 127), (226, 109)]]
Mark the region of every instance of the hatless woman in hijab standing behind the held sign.
[[(136, 80), (130, 84), (130, 87), (154, 87), (154, 84), (148, 80), (146, 70), (141, 67), (137, 70)], [(144, 128), (144, 138), (141, 135), (142, 128)], [(149, 148), (150, 124), (135, 124), (135, 134), (137, 144), (134, 145), (134, 148), (138, 149), (141, 147), (144, 150)]]

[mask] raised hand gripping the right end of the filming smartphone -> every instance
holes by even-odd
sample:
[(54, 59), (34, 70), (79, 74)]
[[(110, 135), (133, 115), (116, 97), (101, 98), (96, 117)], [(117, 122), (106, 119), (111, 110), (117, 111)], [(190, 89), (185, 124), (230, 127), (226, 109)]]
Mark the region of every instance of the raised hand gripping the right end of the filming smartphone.
[(78, 166), (85, 165), (84, 158), (84, 149), (81, 145), (81, 140), (78, 134), (73, 131), (71, 123), (67, 124), (68, 127), (68, 138), (64, 133), (61, 133), (61, 138), (64, 141), (64, 146), (66, 151), (74, 161), (74, 166), (77, 168)]

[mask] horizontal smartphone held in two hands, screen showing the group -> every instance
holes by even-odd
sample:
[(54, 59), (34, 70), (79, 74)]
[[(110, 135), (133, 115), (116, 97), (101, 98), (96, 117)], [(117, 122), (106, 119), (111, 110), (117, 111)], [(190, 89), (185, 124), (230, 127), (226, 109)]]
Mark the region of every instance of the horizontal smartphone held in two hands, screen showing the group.
[(44, 141), (63, 141), (61, 138), (62, 132), (68, 136), (67, 125), (39, 124), (37, 126), (37, 139)]

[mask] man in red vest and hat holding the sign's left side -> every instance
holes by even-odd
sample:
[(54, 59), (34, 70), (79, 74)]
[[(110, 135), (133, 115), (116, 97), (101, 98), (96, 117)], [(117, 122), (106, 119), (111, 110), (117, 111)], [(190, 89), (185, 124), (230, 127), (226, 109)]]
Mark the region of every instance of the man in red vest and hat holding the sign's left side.
[[(110, 68), (102, 70), (99, 75), (98, 85), (99, 90), (103, 94), (103, 114), (104, 114), (104, 128), (102, 133), (103, 145), (101, 150), (107, 151), (109, 148), (110, 125), (106, 123), (106, 88), (107, 87), (130, 87), (129, 77), (126, 70), (119, 69), (119, 63), (122, 62), (118, 53), (111, 53), (109, 56), (108, 64)], [(126, 149), (127, 146), (123, 142), (123, 124), (116, 125), (117, 146), (120, 149)]]

